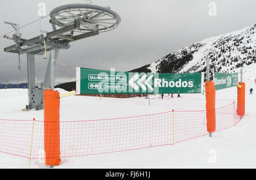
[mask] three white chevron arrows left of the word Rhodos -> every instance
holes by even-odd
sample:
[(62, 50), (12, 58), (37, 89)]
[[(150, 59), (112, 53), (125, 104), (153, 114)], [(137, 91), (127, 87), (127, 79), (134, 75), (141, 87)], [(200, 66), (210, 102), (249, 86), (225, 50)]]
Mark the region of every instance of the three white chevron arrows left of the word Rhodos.
[[(145, 80), (144, 83), (147, 85), (147, 87), (148, 87), (151, 91), (153, 90), (152, 86), (148, 83), (148, 82), (150, 82), (150, 80), (153, 78), (153, 76), (154, 76), (154, 75), (151, 75), (148, 79), (146, 79), (146, 78), (147, 78), (147, 75), (144, 74), (144, 75), (141, 77), (141, 79), (138, 80), (139, 86), (140, 86), (144, 91), (147, 90), (146, 86), (145, 86), (144, 84), (142, 84), (142, 82), (143, 82), (145, 79), (146, 79), (146, 80)], [(135, 74), (135, 75), (133, 76), (133, 78), (131, 78), (131, 79), (129, 80), (130, 86), (133, 87), (133, 88), (135, 89), (135, 91), (138, 91), (138, 89), (139, 89), (138, 85), (135, 84), (135, 81), (136, 81), (138, 78), (139, 78), (139, 74)]]

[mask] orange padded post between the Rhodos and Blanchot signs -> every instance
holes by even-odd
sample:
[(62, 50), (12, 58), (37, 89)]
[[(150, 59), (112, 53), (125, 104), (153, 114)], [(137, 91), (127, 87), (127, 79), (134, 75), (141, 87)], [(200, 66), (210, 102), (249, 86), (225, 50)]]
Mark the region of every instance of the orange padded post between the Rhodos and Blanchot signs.
[(216, 129), (216, 114), (215, 114), (215, 86), (214, 82), (205, 82), (205, 97), (207, 109), (207, 131), (214, 132)]

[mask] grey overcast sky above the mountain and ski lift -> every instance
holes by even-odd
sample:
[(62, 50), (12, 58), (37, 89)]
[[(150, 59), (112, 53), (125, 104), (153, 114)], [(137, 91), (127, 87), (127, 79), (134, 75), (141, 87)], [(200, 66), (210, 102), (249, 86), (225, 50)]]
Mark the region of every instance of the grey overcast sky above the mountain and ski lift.
[[(13, 31), (4, 21), (28, 24), (38, 16), (38, 4), (46, 3), (46, 13), (68, 3), (68, 0), (0, 1), (0, 35)], [(209, 3), (217, 5), (216, 16), (209, 16)], [(255, 0), (93, 0), (94, 5), (110, 6), (121, 16), (121, 24), (113, 31), (71, 42), (69, 50), (60, 50), (56, 82), (75, 80), (70, 67), (88, 67), (128, 71), (152, 63), (164, 55), (204, 38), (221, 35), (256, 23)], [(52, 31), (49, 17), (41, 21), (45, 31)], [(23, 38), (39, 34), (39, 22), (20, 29)], [(11, 34), (10, 34), (11, 35)], [(18, 55), (4, 53), (3, 48), (14, 42), (0, 38), (0, 83), (27, 82), (27, 58), (21, 55), (22, 70), (3, 71), (18, 66)], [(49, 55), (49, 54), (48, 54)], [(61, 63), (68, 65), (65, 67)], [(43, 81), (46, 60), (36, 56), (36, 79)]]

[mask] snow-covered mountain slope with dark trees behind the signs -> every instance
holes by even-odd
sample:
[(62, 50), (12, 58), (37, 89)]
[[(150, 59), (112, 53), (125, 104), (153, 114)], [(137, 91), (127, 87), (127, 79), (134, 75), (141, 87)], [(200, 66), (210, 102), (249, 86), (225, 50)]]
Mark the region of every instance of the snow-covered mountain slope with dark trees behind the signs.
[[(253, 75), (256, 63), (256, 24), (238, 31), (207, 38), (172, 52), (151, 65), (137, 68), (137, 72), (201, 72), (206, 69), (206, 59), (215, 72), (243, 72)], [(253, 68), (252, 68), (253, 67)], [(249, 75), (250, 74), (250, 75)], [(254, 77), (253, 77), (254, 78)]]

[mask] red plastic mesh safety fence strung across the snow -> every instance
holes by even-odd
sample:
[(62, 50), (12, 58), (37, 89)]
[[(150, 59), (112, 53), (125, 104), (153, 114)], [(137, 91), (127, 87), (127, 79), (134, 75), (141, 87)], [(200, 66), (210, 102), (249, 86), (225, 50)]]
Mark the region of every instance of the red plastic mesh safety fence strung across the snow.
[[(241, 121), (237, 104), (216, 109), (216, 131)], [(207, 135), (206, 111), (170, 111), (137, 117), (60, 122), (61, 157), (170, 145)], [(34, 125), (33, 125), (34, 124)], [(44, 122), (0, 119), (0, 152), (42, 158)], [(54, 143), (54, 142), (52, 142)]]

